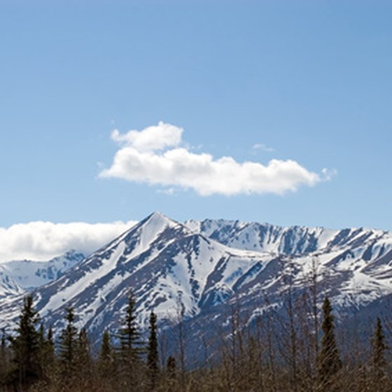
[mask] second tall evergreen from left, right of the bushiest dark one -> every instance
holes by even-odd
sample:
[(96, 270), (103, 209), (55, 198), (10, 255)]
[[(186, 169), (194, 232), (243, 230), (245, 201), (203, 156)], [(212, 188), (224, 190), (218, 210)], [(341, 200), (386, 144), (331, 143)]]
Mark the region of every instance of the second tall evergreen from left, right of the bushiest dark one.
[(69, 377), (74, 373), (78, 344), (78, 330), (75, 325), (73, 325), (75, 315), (73, 314), (72, 307), (66, 309), (65, 318), (67, 323), (59, 337), (59, 361), (62, 375), (64, 377)]

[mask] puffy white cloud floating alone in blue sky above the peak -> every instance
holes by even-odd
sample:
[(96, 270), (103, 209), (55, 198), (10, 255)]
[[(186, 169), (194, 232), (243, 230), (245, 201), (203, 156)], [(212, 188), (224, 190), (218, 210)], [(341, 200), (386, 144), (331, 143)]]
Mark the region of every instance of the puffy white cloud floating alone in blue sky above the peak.
[(119, 150), (111, 167), (99, 176), (193, 189), (202, 196), (281, 195), (300, 186), (314, 186), (325, 179), (323, 173), (310, 172), (295, 160), (272, 159), (262, 165), (193, 153), (181, 145), (182, 134), (182, 128), (162, 122), (126, 134), (114, 130), (111, 139), (119, 144)]

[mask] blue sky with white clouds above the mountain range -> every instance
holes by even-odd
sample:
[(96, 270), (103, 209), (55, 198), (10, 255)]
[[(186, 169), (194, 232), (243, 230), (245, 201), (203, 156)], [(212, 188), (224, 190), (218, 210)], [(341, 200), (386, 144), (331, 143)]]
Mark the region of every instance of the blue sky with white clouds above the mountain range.
[(0, 261), (152, 211), (392, 230), (391, 1), (0, 11)]

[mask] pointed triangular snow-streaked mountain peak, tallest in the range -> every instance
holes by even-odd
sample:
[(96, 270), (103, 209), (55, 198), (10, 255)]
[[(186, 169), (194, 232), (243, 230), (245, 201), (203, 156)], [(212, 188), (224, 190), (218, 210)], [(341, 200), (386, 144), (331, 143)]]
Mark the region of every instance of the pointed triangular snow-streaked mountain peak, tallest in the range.
[[(116, 330), (133, 288), (141, 322), (154, 310), (161, 320), (176, 317), (179, 301), (186, 316), (225, 301), (265, 265), (268, 253), (228, 248), (155, 213), (99, 249), (56, 281), (36, 290), (36, 307), (55, 330), (64, 311), (76, 309), (77, 325), (92, 335)], [(21, 296), (0, 312), (17, 307)]]

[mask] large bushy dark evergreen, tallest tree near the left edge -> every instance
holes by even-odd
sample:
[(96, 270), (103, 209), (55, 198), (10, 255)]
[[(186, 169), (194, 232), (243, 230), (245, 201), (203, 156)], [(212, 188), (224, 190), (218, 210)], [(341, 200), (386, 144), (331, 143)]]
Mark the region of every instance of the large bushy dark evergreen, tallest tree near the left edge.
[(15, 330), (17, 335), (10, 339), (15, 366), (11, 379), (13, 384), (18, 383), (22, 389), (36, 381), (41, 373), (39, 332), (36, 330), (38, 321), (38, 312), (33, 307), (33, 297), (27, 295), (23, 299), (18, 328)]

